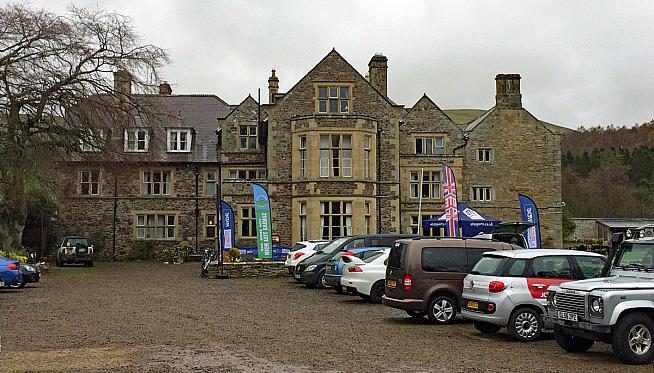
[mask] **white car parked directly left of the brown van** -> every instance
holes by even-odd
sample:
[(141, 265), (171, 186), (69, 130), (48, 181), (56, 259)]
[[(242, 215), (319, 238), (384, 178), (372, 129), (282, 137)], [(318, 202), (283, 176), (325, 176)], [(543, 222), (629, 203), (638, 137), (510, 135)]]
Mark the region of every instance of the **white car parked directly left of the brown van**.
[(341, 286), (348, 293), (369, 298), (373, 303), (381, 303), (385, 291), (386, 264), (390, 248), (379, 251), (366, 258), (343, 257), (343, 276)]

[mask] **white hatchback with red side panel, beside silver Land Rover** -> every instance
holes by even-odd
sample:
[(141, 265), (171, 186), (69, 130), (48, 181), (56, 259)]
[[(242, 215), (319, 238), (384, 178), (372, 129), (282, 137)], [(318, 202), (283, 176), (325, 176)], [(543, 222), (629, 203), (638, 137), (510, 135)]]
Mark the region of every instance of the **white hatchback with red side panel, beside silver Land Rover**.
[(485, 253), (463, 280), (464, 318), (482, 333), (506, 327), (519, 341), (533, 341), (545, 327), (547, 288), (595, 278), (602, 255), (574, 250), (506, 250)]

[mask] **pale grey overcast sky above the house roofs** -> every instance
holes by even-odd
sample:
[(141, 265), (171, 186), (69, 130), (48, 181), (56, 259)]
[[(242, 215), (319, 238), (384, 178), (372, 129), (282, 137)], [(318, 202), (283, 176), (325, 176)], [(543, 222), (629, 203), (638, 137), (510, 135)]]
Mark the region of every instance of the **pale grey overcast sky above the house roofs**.
[[(32, 0), (64, 12), (67, 0)], [(334, 47), (362, 75), (388, 57), (388, 94), (407, 107), (488, 109), (498, 73), (519, 73), (523, 106), (566, 127), (654, 119), (652, 1), (78, 0), (132, 18), (166, 49), (174, 93), (229, 103), (275, 68), (286, 92)]]

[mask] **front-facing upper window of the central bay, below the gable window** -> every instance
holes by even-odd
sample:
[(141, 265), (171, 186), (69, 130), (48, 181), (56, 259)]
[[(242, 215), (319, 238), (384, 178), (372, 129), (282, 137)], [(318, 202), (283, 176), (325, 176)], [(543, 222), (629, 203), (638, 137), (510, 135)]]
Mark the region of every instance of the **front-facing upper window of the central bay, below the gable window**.
[(352, 176), (351, 135), (320, 135), (320, 176)]

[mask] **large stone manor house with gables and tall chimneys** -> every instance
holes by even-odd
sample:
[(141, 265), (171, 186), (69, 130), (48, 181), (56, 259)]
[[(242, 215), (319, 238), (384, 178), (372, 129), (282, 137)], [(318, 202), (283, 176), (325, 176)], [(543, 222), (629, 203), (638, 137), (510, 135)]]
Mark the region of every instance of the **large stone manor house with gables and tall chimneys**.
[[(387, 74), (385, 56), (372, 57), (364, 77), (332, 50), (287, 92), (278, 91), (273, 70), (267, 104), (175, 95), (167, 83), (158, 95), (138, 95), (167, 119), (113, 131), (106, 123), (117, 160), (91, 154), (60, 162), (67, 176), (59, 234), (88, 235), (118, 258), (145, 240), (193, 244), (196, 232), (197, 246), (210, 246), (220, 191), (234, 209), (236, 245), (255, 246), (257, 182), (268, 189), (279, 245), (376, 232), (438, 235), (422, 232), (419, 201), (422, 219), (443, 212), (446, 162), (459, 201), (519, 221), (517, 195), (528, 194), (539, 206), (544, 246), (561, 247), (560, 128), (522, 107), (519, 75), (497, 75), (495, 106), (455, 121), (460, 113), (426, 95), (411, 107), (395, 103)], [(130, 79), (116, 73), (115, 88), (132, 94)]]

